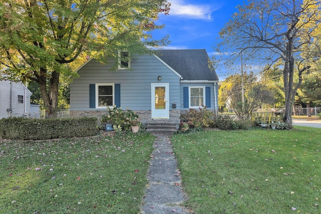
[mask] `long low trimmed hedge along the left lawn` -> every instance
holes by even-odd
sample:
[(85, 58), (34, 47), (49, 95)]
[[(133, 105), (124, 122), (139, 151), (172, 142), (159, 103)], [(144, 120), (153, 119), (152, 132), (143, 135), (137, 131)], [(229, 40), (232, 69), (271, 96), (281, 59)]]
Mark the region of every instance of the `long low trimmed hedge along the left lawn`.
[(98, 133), (97, 118), (28, 119), (10, 117), (0, 120), (0, 138), (45, 140), (86, 137)]

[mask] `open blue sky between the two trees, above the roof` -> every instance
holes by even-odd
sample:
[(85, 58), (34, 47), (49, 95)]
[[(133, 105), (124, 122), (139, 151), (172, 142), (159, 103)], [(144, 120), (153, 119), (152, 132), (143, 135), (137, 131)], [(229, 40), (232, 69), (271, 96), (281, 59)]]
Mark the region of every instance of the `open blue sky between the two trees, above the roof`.
[[(157, 24), (165, 28), (152, 33), (154, 39), (169, 35), (171, 44), (164, 49), (206, 49), (213, 56), (219, 42), (219, 32), (246, 0), (169, 0), (170, 14), (161, 15)], [(227, 71), (216, 69), (220, 80)]]

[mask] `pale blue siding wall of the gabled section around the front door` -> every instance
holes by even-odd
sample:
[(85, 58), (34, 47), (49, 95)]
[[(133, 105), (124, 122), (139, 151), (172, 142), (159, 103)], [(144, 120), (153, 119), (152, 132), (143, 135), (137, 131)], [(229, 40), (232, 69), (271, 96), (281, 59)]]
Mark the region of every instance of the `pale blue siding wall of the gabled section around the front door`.
[[(89, 84), (97, 83), (120, 84), (120, 105), (124, 110), (150, 110), (151, 83), (169, 83), (170, 109), (173, 102), (177, 103), (176, 109), (180, 109), (179, 76), (156, 57), (143, 55), (132, 59), (132, 71), (114, 72), (110, 71), (111, 66), (93, 59), (78, 71), (80, 77), (74, 79), (70, 86), (71, 111), (106, 110), (89, 108)], [(157, 80), (158, 76), (162, 76), (161, 81)]]

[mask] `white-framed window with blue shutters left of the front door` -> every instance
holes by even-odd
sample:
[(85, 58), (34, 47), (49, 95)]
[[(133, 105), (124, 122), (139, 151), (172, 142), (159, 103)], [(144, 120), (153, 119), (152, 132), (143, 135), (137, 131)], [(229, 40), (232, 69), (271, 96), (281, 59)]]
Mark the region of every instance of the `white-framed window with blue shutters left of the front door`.
[(114, 105), (114, 85), (96, 84), (96, 107), (105, 108)]

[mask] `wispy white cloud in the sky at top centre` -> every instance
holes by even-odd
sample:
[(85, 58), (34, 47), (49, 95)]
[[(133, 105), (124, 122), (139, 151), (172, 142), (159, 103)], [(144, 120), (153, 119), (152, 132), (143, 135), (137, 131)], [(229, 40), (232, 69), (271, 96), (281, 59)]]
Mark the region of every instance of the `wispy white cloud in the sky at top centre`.
[(182, 0), (170, 1), (170, 15), (187, 16), (193, 19), (211, 20), (211, 13), (214, 11), (210, 5), (189, 5)]

